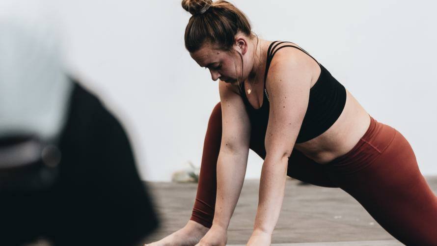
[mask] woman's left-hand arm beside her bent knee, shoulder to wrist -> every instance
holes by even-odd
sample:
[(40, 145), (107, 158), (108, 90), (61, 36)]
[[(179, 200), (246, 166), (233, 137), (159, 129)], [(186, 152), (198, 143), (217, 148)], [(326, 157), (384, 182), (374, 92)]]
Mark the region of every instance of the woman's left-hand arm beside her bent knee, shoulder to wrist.
[(235, 85), (219, 81), (222, 135), (217, 161), (217, 197), (212, 227), (227, 230), (240, 196), (249, 153), (250, 121)]

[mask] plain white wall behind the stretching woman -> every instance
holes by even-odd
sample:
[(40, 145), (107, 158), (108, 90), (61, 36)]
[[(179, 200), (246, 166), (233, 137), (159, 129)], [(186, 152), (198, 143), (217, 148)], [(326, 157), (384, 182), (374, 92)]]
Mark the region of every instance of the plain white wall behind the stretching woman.
[[(66, 59), (134, 143), (144, 180), (169, 181), (200, 165), (218, 103), (211, 81), (184, 48), (190, 14), (181, 0), (59, 0)], [(234, 0), (253, 30), (300, 45), (378, 121), (410, 141), (420, 170), (437, 174), (435, 1)], [(249, 155), (246, 178), (262, 160)]]

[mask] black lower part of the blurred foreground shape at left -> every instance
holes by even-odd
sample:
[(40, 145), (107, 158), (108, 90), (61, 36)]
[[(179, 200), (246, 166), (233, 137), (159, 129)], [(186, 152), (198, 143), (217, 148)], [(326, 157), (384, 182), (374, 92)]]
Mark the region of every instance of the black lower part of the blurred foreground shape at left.
[(38, 237), (53, 245), (129, 246), (158, 226), (125, 131), (73, 83), (56, 141), (0, 140), (1, 246)]

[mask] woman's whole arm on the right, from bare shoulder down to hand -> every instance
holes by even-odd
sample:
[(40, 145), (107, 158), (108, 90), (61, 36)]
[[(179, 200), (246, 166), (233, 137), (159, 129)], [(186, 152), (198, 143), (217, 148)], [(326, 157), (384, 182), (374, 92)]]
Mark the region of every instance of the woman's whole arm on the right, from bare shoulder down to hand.
[(308, 107), (311, 65), (295, 49), (281, 51), (284, 52), (278, 52), (279, 57), (272, 61), (266, 83), (270, 98), (266, 158), (261, 170), (254, 231), (248, 245), (258, 245), (256, 242), (262, 238), (270, 238), (276, 226), (284, 198), (288, 158)]

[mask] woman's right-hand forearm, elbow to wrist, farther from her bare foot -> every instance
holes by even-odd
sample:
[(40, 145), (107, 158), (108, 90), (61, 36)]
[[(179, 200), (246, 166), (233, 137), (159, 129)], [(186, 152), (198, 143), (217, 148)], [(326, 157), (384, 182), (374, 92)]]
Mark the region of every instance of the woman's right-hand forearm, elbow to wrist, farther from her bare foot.
[(259, 202), (254, 230), (272, 233), (284, 199), (288, 158), (266, 157), (259, 185)]

